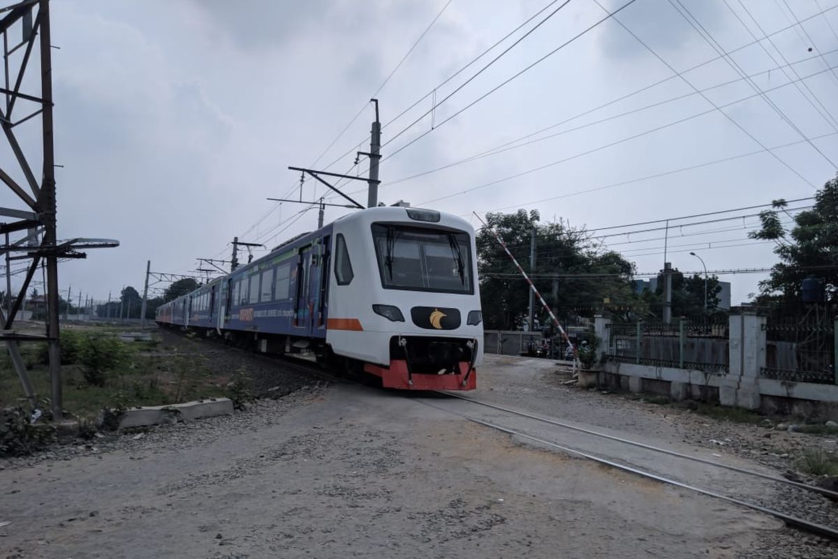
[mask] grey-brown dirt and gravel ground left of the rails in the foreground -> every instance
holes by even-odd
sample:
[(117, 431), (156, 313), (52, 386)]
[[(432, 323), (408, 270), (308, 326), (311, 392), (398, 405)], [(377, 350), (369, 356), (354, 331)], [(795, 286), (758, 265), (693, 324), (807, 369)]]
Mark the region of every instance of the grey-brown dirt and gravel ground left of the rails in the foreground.
[(9, 558), (733, 557), (779, 525), (348, 385), (10, 463), (0, 495)]

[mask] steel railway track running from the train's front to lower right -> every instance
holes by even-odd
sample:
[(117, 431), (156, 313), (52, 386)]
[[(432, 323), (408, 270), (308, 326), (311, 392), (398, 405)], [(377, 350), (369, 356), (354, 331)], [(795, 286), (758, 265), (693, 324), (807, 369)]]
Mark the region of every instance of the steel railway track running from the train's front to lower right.
[[(491, 410), (493, 412), (500, 412), (502, 417), (495, 417), (494, 419), (488, 419), (486, 417), (477, 417), (473, 412), (469, 413), (468, 410), (463, 409), (453, 409), (450, 406), (439, 405), (440, 400), (437, 401), (424, 401), (424, 400), (416, 400), (423, 405), (431, 406), (436, 408), (440, 411), (445, 411), (447, 413), (456, 415), (458, 417), (462, 417), (463, 419), (477, 423), (478, 425), (483, 425), (484, 427), (490, 427), (497, 431), (504, 432), (511, 436), (520, 437), (525, 440), (529, 440), (533, 443), (538, 443), (542, 446), (547, 448), (553, 448), (559, 450), (563, 453), (570, 454), (572, 456), (576, 456), (578, 458), (585, 458), (588, 460), (592, 460), (596, 463), (601, 463), (603, 465), (609, 466), (611, 468), (617, 468), (623, 472), (628, 472), (631, 474), (639, 475), (641, 477), (647, 479), (653, 479), (654, 481), (668, 484), (680, 489), (690, 490), (692, 492), (703, 494), (714, 499), (721, 499), (726, 501), (727, 503), (731, 503), (733, 505), (739, 505), (743, 507), (747, 507), (751, 510), (757, 510), (765, 515), (771, 515), (774, 518), (779, 520), (783, 520), (786, 525), (793, 526), (801, 531), (808, 532), (810, 534), (815, 534), (816, 536), (821, 536), (830, 539), (831, 541), (838, 541), (838, 527), (834, 525), (825, 525), (813, 520), (807, 520), (804, 518), (800, 518), (799, 516), (790, 515), (787, 512), (781, 510), (775, 510), (769, 506), (758, 505), (756, 503), (750, 502), (747, 499), (742, 499), (739, 497), (733, 497), (728, 494), (724, 494), (721, 491), (714, 490), (714, 489), (706, 489), (701, 487), (699, 484), (690, 483), (686, 481), (682, 481), (680, 479), (675, 479), (672, 476), (662, 475), (655, 473), (652, 468), (644, 468), (638, 467), (636, 465), (632, 465), (629, 463), (630, 461), (625, 458), (615, 458), (615, 457), (608, 457), (603, 456), (603, 453), (586, 451), (579, 448), (579, 445), (576, 447), (569, 446), (568, 444), (557, 443), (555, 440), (550, 440), (553, 438), (551, 436), (548, 438), (544, 435), (535, 435), (533, 434), (530, 429), (520, 428), (520, 427), (510, 427), (509, 423), (507, 422), (505, 425), (503, 416), (507, 419), (510, 417), (515, 418), (524, 418), (525, 420), (529, 420), (531, 422), (541, 423), (546, 426), (550, 427), (560, 427), (561, 429), (570, 432), (582, 433), (587, 437), (592, 437), (593, 439), (603, 439), (609, 442), (618, 443), (619, 445), (624, 445), (629, 448), (634, 449), (641, 449), (643, 452), (652, 453), (652, 454), (660, 454), (665, 455), (667, 457), (675, 458), (677, 460), (686, 461), (689, 463), (700, 463), (705, 466), (709, 466), (711, 468), (718, 468), (722, 470), (727, 470), (730, 472), (735, 472), (736, 474), (742, 475), (746, 478), (751, 479), (763, 479), (768, 482), (772, 482), (774, 484), (783, 484), (789, 487), (794, 487), (795, 489), (808, 491), (816, 494), (821, 494), (826, 497), (830, 497), (832, 499), (838, 499), (838, 493), (834, 491), (830, 491), (828, 489), (823, 489), (820, 487), (816, 487), (809, 484), (802, 484), (799, 482), (795, 482), (790, 479), (785, 479), (783, 477), (772, 475), (772, 474), (764, 474), (762, 472), (758, 472), (755, 470), (741, 468), (738, 466), (733, 466), (727, 463), (716, 462), (714, 460), (709, 460), (707, 458), (701, 458), (698, 456), (691, 456), (689, 454), (680, 453), (678, 451), (670, 450), (668, 448), (660, 448), (655, 447), (654, 445), (650, 445), (647, 443), (639, 443), (637, 441), (632, 441), (627, 438), (617, 437), (606, 432), (598, 432), (594, 429), (586, 428), (586, 427), (578, 427), (572, 425), (567, 422), (557, 421), (556, 419), (552, 419), (550, 417), (542, 417), (539, 415), (535, 415), (529, 413), (527, 411), (520, 411), (515, 410), (510, 407), (499, 406), (497, 404), (479, 401), (471, 396), (462, 396), (459, 394), (453, 394), (450, 392), (436, 392), (437, 396), (445, 396), (447, 400), (456, 399), (458, 401), (465, 401), (468, 402), (468, 406), (476, 406), (478, 408), (483, 408)], [(442, 400), (445, 401), (445, 400)], [(495, 414), (497, 415), (497, 414)], [(527, 432), (530, 431), (530, 432)], [(836, 522), (838, 524), (838, 522)]]

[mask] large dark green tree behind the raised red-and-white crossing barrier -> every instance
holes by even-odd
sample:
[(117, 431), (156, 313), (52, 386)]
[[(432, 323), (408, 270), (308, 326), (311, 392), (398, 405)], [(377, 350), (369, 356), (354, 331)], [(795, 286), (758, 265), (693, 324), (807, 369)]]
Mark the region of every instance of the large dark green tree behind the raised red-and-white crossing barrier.
[[(631, 282), (633, 264), (616, 252), (599, 251), (583, 229), (561, 221), (542, 225), (540, 219), (535, 210), (486, 216), (561, 320), (589, 317), (606, 309), (644, 312)], [(535, 270), (530, 270), (532, 230), (537, 247)], [(486, 328), (514, 329), (528, 314), (529, 286), (491, 230), (478, 232), (476, 247)], [(547, 320), (539, 303), (535, 314), (542, 323)]]

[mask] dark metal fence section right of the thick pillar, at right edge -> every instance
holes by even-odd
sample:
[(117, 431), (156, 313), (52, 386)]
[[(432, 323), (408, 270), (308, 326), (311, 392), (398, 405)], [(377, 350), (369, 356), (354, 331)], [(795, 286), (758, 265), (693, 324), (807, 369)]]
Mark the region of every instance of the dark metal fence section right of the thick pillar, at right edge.
[(761, 375), (770, 379), (838, 384), (838, 318), (822, 306), (796, 315), (769, 315)]

